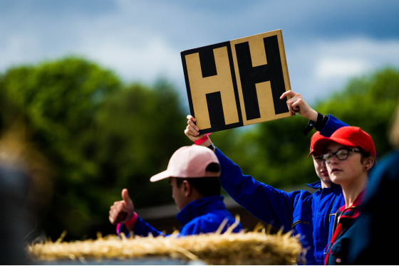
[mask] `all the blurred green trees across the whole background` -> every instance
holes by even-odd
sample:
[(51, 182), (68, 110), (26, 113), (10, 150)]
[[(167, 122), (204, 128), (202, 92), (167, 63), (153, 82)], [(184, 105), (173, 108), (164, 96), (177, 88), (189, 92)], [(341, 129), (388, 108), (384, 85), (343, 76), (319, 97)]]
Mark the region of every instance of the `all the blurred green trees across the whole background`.
[[(55, 240), (67, 230), (71, 240), (114, 233), (108, 211), (122, 188), (129, 189), (136, 208), (172, 203), (169, 184), (149, 178), (166, 169), (176, 149), (192, 144), (183, 133), (186, 97), (167, 80), (123, 84), (112, 71), (83, 58), (2, 73), (1, 133), (24, 124), (26, 138), (52, 171), (51, 201), (38, 220), (43, 234)], [(312, 107), (365, 129), (383, 156), (391, 149), (387, 136), (398, 97), (399, 70), (384, 68), (349, 80)], [(307, 157), (314, 131), (305, 136), (306, 124), (296, 115), (211, 137), (244, 174), (286, 188), (317, 181)]]

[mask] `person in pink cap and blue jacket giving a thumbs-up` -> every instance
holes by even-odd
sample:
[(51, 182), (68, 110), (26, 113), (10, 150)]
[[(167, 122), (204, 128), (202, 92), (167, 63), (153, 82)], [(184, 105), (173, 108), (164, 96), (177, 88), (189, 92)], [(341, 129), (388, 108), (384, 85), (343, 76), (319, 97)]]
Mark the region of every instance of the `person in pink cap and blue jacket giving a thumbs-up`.
[[(219, 175), (219, 160), (214, 152), (192, 145), (175, 151), (167, 169), (151, 177), (151, 182), (169, 179), (172, 198), (180, 210), (176, 218), (183, 225), (180, 236), (214, 233), (223, 223), (221, 233), (231, 226), (234, 233), (243, 229), (223, 203)], [(162, 235), (138, 217), (126, 188), (122, 197), (123, 201), (116, 201), (110, 207), (109, 215), (110, 223), (117, 225), (118, 234), (123, 231), (128, 235), (133, 231), (142, 236)]]

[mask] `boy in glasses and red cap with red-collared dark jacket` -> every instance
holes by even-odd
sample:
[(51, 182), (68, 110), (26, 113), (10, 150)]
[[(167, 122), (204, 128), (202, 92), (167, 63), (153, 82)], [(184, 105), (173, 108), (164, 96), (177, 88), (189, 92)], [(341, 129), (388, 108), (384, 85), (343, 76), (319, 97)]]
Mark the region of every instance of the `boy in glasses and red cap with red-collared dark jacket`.
[(366, 195), (368, 171), (374, 166), (377, 156), (374, 142), (359, 127), (341, 127), (331, 137), (318, 139), (314, 143), (314, 150), (323, 154), (330, 179), (341, 185), (345, 198), (345, 204), (339, 208), (334, 220), (325, 263), (347, 265), (353, 225)]

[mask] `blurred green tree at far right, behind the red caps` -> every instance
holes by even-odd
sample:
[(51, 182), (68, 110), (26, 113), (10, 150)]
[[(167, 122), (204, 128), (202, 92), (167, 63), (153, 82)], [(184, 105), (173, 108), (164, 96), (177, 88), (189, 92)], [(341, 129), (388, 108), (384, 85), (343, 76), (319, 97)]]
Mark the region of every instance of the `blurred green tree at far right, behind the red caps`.
[(388, 142), (390, 122), (399, 100), (399, 70), (384, 68), (348, 82), (346, 88), (317, 106), (373, 137), (378, 155), (392, 149)]

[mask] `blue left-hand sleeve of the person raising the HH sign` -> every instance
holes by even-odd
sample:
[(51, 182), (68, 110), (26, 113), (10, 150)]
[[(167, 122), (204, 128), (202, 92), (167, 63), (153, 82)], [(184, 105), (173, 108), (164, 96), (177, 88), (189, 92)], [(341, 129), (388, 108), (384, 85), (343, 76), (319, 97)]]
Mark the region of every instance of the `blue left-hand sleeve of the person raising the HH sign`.
[(285, 231), (291, 230), (294, 206), (300, 191), (286, 193), (255, 181), (252, 176), (242, 174), (239, 166), (222, 151), (216, 149), (215, 153), (221, 165), (222, 188), (229, 196), (260, 220), (276, 228), (282, 227)]

